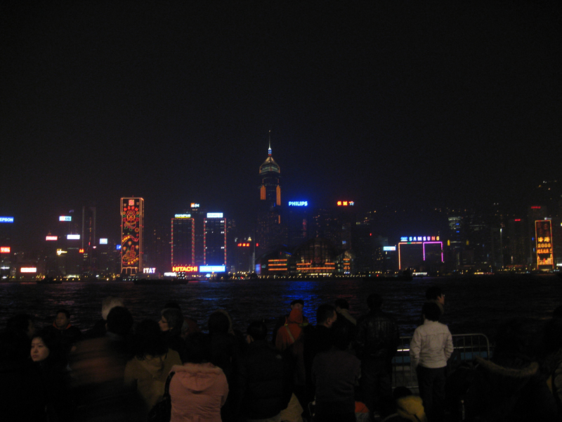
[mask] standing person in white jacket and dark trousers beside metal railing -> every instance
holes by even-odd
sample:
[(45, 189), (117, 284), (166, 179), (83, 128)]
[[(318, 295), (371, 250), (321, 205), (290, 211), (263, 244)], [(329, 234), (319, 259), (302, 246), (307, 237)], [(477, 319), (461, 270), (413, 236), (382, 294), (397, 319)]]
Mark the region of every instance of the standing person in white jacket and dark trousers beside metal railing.
[(410, 343), (410, 362), (416, 370), (419, 396), (430, 422), (442, 422), (445, 416), (445, 368), (452, 354), (452, 335), (439, 322), (441, 310), (435, 302), (421, 308), (424, 324), (416, 328)]

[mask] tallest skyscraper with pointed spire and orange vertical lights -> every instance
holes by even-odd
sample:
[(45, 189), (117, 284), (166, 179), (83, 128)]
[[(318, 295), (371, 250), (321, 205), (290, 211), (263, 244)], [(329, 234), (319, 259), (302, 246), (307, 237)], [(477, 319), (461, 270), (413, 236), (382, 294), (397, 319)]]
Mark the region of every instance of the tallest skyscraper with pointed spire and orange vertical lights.
[(280, 167), (271, 155), (270, 139), (268, 158), (259, 167), (261, 184), (259, 185), (260, 201), (256, 224), (256, 249), (259, 255), (286, 242), (286, 230), (281, 218), (280, 173)]

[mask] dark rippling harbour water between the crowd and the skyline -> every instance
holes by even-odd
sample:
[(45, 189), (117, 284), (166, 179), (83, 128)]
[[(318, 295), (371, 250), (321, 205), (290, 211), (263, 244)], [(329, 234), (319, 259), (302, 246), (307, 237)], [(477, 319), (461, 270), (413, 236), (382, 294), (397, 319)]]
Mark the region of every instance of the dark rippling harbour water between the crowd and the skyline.
[(345, 298), (354, 316), (367, 313), (367, 296), (383, 296), (384, 310), (396, 316), (401, 335), (412, 335), (419, 323), (426, 288), (438, 285), (445, 292), (445, 316), (453, 334), (484, 333), (493, 340), (497, 327), (515, 316), (528, 317), (539, 328), (562, 305), (562, 277), (556, 275), (472, 276), (376, 281), (334, 279), (322, 281), (223, 281), (180, 286), (136, 286), (131, 282), (74, 282), (40, 285), (0, 283), (0, 327), (19, 312), (37, 319), (38, 327), (53, 322), (56, 309), (69, 309), (72, 324), (85, 331), (101, 318), (105, 296), (119, 296), (135, 321), (159, 319), (166, 302), (178, 302), (184, 314), (207, 329), (209, 314), (226, 309), (235, 328), (245, 331), (250, 321), (287, 314), (289, 303), (305, 301), (304, 314), (315, 323), (322, 303)]

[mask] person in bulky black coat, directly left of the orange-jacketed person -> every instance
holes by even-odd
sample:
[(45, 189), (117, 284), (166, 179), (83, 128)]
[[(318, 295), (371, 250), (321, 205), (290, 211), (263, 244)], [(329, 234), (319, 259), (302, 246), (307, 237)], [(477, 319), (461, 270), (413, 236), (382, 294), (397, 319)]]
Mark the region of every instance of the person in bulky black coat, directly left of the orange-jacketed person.
[(247, 329), (248, 346), (240, 357), (238, 413), (247, 421), (275, 418), (287, 407), (292, 394), (287, 362), (268, 343), (267, 333), (263, 321), (252, 322)]

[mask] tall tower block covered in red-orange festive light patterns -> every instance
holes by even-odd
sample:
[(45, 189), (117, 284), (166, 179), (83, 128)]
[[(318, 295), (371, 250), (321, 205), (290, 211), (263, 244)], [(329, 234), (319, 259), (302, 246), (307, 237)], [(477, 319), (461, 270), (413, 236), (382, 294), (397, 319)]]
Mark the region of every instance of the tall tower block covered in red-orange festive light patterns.
[(142, 271), (143, 198), (121, 198), (121, 273)]

